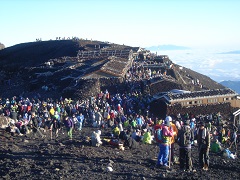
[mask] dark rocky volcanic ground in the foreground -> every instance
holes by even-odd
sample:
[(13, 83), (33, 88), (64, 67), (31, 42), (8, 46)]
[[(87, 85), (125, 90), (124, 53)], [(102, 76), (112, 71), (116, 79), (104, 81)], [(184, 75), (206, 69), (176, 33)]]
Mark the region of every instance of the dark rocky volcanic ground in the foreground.
[[(0, 177), (2, 179), (239, 179), (239, 159), (210, 154), (209, 171), (198, 168), (197, 148), (193, 147), (196, 172), (182, 172), (174, 164), (169, 170), (156, 167), (156, 144), (139, 144), (137, 149), (120, 150), (110, 145), (92, 147), (85, 137), (96, 129), (85, 127), (73, 132), (69, 141), (61, 131), (58, 141), (34, 138), (31, 134), (11, 136), (0, 132)], [(103, 130), (102, 135), (109, 130)], [(238, 148), (239, 149), (239, 148)], [(178, 147), (175, 147), (178, 155)], [(239, 150), (237, 152), (239, 154)], [(107, 171), (111, 165), (113, 171)]]

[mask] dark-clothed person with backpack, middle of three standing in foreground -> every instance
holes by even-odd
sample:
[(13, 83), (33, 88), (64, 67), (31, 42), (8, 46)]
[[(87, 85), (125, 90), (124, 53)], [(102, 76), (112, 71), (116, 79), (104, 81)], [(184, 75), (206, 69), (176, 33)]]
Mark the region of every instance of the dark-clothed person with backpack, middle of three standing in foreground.
[(194, 140), (194, 132), (190, 127), (190, 120), (186, 120), (178, 132), (180, 169), (192, 171), (191, 142)]

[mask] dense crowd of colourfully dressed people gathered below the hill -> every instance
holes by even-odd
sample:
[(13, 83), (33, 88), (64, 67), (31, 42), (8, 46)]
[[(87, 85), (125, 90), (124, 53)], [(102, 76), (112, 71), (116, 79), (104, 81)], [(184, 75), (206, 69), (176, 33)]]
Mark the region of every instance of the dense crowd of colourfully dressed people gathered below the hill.
[[(192, 171), (191, 147), (198, 146), (199, 166), (209, 167), (209, 151), (223, 152), (224, 147), (237, 148), (237, 128), (221, 124), (221, 115), (176, 114), (160, 119), (153, 116), (150, 99), (140, 92), (110, 95), (106, 90), (86, 100), (12, 97), (0, 99), (0, 114), (10, 117), (6, 131), (12, 135), (58, 139), (66, 131), (71, 141), (73, 131), (95, 127), (93, 146), (104, 144), (101, 129), (110, 132), (112, 145), (134, 148), (139, 142), (159, 144), (157, 166), (169, 168), (180, 163), (180, 169)], [(162, 141), (156, 141), (156, 130), (162, 130)], [(48, 133), (50, 132), (50, 133)], [(47, 136), (47, 137), (46, 137)], [(113, 141), (114, 139), (114, 141)], [(106, 143), (106, 142), (105, 142)], [(179, 145), (179, 160), (174, 145)]]

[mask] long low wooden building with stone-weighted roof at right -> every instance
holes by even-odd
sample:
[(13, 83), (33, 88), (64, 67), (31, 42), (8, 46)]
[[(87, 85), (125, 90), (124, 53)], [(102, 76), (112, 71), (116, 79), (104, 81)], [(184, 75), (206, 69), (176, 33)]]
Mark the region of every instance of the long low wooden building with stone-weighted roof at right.
[(150, 111), (160, 118), (176, 113), (230, 113), (233, 108), (240, 108), (240, 98), (228, 88), (194, 92), (174, 89), (154, 96), (150, 104)]

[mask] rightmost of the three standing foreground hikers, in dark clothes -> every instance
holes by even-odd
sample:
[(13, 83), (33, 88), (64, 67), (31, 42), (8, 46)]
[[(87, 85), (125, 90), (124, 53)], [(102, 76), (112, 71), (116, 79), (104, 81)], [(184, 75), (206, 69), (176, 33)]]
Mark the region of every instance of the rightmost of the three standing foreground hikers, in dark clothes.
[(197, 143), (199, 153), (199, 165), (203, 170), (208, 170), (209, 167), (209, 148), (210, 148), (210, 134), (205, 127), (204, 122), (200, 122), (197, 130)]

